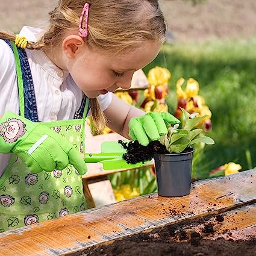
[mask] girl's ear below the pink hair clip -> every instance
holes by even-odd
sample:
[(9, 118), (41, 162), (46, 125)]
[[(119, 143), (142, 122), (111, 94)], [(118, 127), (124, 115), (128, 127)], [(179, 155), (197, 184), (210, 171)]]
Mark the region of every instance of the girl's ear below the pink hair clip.
[(62, 43), (62, 48), (67, 58), (74, 58), (84, 46), (84, 40), (80, 36), (67, 36)]

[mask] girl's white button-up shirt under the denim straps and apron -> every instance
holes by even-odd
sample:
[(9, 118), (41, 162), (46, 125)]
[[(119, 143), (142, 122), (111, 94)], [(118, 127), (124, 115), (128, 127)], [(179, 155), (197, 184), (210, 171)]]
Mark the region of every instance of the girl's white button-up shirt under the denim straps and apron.
[[(36, 42), (42, 32), (39, 28), (23, 27), (20, 36)], [(48, 122), (73, 119), (81, 105), (83, 93), (69, 72), (58, 68), (42, 50), (26, 50), (26, 53), (33, 76), (39, 120)], [(111, 99), (111, 92), (98, 96), (103, 111), (110, 105)], [(19, 114), (16, 67), (10, 46), (0, 40), (0, 116), (8, 110)], [(0, 176), (10, 157), (10, 154), (0, 154)]]

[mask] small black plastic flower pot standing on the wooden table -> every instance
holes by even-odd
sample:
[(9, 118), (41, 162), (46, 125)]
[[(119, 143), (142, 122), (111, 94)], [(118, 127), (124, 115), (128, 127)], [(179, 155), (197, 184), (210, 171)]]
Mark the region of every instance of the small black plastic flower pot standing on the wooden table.
[(190, 193), (193, 149), (180, 154), (156, 154), (158, 195), (185, 196)]

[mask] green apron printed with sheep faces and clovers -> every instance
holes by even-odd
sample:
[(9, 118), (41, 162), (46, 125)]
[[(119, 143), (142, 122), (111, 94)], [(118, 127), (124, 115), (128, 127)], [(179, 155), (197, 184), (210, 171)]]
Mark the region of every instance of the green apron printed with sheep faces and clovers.
[[(24, 117), (20, 57), (16, 46), (13, 46), (13, 51), (19, 86), (20, 115)], [(83, 118), (40, 124), (59, 133), (79, 152), (84, 153), (84, 126), (88, 108), (89, 99), (86, 98)], [(13, 154), (0, 178), (0, 233), (84, 211), (86, 208), (82, 178), (70, 164), (64, 170), (31, 173), (17, 155)]]

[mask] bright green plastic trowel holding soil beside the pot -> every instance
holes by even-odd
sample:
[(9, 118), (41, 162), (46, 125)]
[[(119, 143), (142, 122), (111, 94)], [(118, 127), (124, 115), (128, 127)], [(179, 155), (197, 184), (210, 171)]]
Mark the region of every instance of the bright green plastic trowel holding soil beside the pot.
[(102, 142), (101, 153), (86, 153), (84, 161), (86, 161), (86, 163), (102, 163), (104, 170), (132, 169), (134, 167), (143, 166), (149, 162), (128, 164), (123, 159), (123, 154), (126, 152), (126, 149), (118, 142)]

